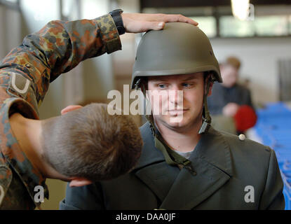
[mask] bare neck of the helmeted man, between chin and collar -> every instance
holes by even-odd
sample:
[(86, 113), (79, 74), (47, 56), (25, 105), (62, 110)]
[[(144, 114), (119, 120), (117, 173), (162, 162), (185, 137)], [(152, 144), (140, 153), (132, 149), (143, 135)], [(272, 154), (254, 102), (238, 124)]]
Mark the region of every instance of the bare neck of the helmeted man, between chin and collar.
[(199, 124), (192, 125), (188, 128), (174, 129), (163, 125), (162, 123), (156, 123), (158, 131), (165, 142), (172, 148), (172, 150), (180, 152), (193, 151), (201, 135), (198, 134), (202, 125), (202, 121)]

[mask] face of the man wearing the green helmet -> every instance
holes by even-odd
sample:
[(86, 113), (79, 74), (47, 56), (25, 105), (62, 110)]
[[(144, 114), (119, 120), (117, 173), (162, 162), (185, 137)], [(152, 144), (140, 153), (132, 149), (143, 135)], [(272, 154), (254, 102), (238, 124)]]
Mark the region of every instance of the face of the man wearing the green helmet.
[(156, 124), (170, 129), (201, 125), (204, 94), (202, 72), (151, 76), (147, 90)]

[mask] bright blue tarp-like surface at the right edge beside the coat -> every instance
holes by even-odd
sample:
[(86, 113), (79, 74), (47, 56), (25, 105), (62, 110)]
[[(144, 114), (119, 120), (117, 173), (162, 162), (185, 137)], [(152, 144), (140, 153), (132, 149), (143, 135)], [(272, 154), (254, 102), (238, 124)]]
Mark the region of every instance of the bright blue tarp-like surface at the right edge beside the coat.
[(291, 110), (283, 102), (266, 104), (257, 110), (254, 129), (262, 144), (276, 152), (284, 181), (285, 209), (291, 210)]

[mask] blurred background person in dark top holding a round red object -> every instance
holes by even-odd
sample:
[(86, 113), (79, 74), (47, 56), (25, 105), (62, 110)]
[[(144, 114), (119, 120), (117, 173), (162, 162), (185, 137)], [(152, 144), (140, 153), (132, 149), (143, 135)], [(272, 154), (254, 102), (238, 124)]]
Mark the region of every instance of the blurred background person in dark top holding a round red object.
[(213, 85), (208, 97), (212, 125), (217, 130), (241, 134), (253, 127), (257, 121), (251, 93), (246, 85), (238, 83), (241, 62), (237, 57), (227, 57), (219, 65), (222, 83)]

